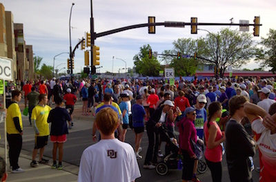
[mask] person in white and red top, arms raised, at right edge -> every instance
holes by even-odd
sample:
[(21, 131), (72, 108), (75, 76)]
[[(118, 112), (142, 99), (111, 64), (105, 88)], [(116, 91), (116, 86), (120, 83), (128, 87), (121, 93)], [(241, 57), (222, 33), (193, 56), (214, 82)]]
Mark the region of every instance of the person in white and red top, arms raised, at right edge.
[(276, 178), (276, 128), (266, 128), (263, 121), (272, 120), (276, 123), (276, 103), (270, 106), (268, 113), (254, 103), (244, 103), (244, 112), (251, 122), (251, 128), (257, 133), (256, 141), (262, 153), (259, 181), (274, 181)]

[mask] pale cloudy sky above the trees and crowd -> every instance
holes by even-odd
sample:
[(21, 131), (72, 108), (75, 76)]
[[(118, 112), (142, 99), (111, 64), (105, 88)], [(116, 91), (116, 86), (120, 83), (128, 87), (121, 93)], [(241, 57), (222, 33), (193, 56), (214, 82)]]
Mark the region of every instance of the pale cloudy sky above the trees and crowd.
[[(42, 63), (53, 65), (54, 57), (61, 52), (70, 52), (69, 17), (71, 16), (72, 49), (90, 32), (90, 1), (89, 0), (0, 0), (6, 11), (11, 11), (14, 23), (23, 23), (24, 39), (32, 45), (34, 56), (42, 57)], [(190, 17), (197, 17), (198, 23), (239, 23), (248, 20), (253, 23), (255, 16), (260, 16), (260, 37), (253, 37), (256, 42), (261, 37), (267, 38), (270, 28), (276, 28), (276, 2), (273, 0), (94, 0), (92, 13), (95, 32), (105, 32), (116, 28), (148, 23), (153, 16), (157, 23), (164, 21), (190, 22)], [(210, 32), (219, 32), (227, 26), (198, 26)], [(236, 30), (238, 26), (228, 28)], [(253, 26), (249, 28), (253, 34)], [(133, 67), (133, 57), (139, 53), (143, 45), (150, 45), (152, 52), (161, 53), (172, 50), (173, 41), (180, 38), (197, 39), (206, 37), (205, 31), (198, 30), (190, 34), (190, 26), (185, 28), (156, 27), (156, 34), (148, 34), (148, 27), (126, 30), (95, 40), (100, 48), (100, 72), (119, 72), (122, 68)], [(55, 57), (55, 69), (61, 72), (67, 69), (69, 54)], [(123, 61), (121, 60), (123, 59)], [(157, 58), (158, 59), (158, 58)], [(125, 63), (126, 62), (126, 63)], [(66, 67), (66, 69), (63, 69)], [(75, 70), (80, 72), (84, 67), (84, 51), (75, 52)], [(251, 61), (243, 68), (259, 68)]]

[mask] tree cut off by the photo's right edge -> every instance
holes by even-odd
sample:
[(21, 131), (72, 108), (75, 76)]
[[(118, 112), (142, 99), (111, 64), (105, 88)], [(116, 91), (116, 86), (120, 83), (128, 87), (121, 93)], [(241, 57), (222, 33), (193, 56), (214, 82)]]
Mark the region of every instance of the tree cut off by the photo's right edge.
[(257, 49), (256, 61), (261, 61), (261, 66), (270, 66), (273, 74), (276, 72), (276, 30), (269, 29), (268, 38), (262, 37), (261, 44), (264, 46)]

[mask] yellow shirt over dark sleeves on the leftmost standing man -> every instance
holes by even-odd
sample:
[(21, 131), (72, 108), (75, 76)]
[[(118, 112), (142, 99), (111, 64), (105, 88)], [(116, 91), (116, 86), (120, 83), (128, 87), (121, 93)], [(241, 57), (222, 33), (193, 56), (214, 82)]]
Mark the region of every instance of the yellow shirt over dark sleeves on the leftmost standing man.
[(21, 111), (18, 103), (12, 103), (7, 109), (7, 133), (8, 134), (19, 134), (17, 128), (15, 128), (13, 118), (19, 117), (19, 124), (21, 130), (23, 130)]

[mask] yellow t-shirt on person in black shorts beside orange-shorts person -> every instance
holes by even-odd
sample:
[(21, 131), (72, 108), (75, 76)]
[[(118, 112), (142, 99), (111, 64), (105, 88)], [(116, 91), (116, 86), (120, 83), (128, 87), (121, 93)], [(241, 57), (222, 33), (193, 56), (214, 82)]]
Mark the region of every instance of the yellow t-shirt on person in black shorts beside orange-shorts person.
[(37, 129), (39, 130), (38, 136), (47, 136), (50, 134), (49, 123), (47, 123), (47, 119), (50, 113), (49, 105), (45, 105), (42, 107), (41, 105), (37, 105), (32, 110), (32, 120), (36, 121)]

